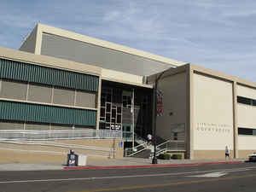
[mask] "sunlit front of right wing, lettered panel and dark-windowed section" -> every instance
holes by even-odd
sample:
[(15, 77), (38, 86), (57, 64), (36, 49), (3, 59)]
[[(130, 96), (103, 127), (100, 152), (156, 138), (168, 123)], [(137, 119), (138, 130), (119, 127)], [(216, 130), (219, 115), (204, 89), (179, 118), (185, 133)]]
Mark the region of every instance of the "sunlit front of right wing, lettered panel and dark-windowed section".
[[(239, 136), (240, 139), (238, 139), (237, 126), (255, 128), (253, 119), (256, 117), (253, 114), (256, 111), (253, 106), (237, 104), (236, 93), (237, 96), (256, 99), (256, 84), (195, 64), (169, 70), (162, 78), (172, 76), (185, 67), (191, 67), (191, 74), (197, 73), (190, 75), (190, 79), (193, 79), (189, 96), (192, 105), (188, 116), (192, 119), (190, 126), (195, 136), (192, 134), (190, 141), (189, 137), (187, 139), (187, 142), (191, 142), (189, 144), (191, 152), (195, 150), (195, 159), (224, 158), (226, 144), (232, 149), (232, 157), (235, 155), (234, 146), (236, 146), (234, 148), (236, 157), (247, 157), (247, 154), (253, 152), (252, 146), (256, 143), (253, 136), (244, 138)], [(150, 76), (148, 80), (153, 83), (154, 79), (155, 76)], [(238, 153), (237, 149), (239, 149)]]

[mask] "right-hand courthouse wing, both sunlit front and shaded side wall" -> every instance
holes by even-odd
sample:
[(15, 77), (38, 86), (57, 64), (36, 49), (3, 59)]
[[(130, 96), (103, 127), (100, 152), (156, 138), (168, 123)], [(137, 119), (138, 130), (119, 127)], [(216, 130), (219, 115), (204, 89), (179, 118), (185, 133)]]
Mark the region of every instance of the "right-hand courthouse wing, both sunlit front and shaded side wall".
[[(180, 86), (173, 85), (179, 76), (183, 76)], [(155, 75), (148, 78), (150, 83), (154, 83), (154, 79)], [(166, 137), (170, 130), (163, 129), (163, 125), (168, 127), (182, 117), (186, 122), (186, 156), (189, 159), (224, 159), (225, 146), (229, 146), (234, 158), (247, 158), (256, 150), (255, 131), (251, 131), (251, 135), (238, 131), (256, 127), (253, 102), (256, 84), (195, 64), (170, 69), (159, 84), (164, 93), (165, 114), (157, 117), (158, 134)], [(186, 93), (188, 96), (184, 96)], [(237, 101), (240, 96), (250, 98), (251, 104)], [(172, 109), (172, 115), (171, 108), (176, 108)]]

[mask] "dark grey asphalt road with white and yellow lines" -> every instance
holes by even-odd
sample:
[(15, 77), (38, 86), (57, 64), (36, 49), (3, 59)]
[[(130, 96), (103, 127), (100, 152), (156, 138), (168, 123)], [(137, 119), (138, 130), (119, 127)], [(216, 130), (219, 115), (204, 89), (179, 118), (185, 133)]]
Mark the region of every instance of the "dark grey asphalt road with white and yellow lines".
[(0, 172), (0, 192), (256, 191), (256, 163), (76, 171)]

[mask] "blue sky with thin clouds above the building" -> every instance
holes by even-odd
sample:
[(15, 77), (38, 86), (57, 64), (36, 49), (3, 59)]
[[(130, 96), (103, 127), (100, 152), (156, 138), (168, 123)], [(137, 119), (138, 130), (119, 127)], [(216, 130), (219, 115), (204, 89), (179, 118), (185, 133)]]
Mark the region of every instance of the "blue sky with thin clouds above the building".
[(256, 82), (255, 0), (1, 0), (0, 46), (38, 23)]

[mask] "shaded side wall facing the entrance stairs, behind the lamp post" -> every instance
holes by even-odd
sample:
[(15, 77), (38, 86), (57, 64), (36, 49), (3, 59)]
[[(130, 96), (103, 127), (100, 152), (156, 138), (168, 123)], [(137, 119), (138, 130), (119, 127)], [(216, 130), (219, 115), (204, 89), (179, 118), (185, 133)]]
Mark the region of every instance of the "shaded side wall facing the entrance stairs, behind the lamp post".
[(157, 117), (157, 135), (166, 140), (172, 137), (173, 129), (179, 128), (177, 124), (186, 123), (186, 84), (186, 73), (177, 73), (160, 79), (158, 84), (158, 90), (163, 93), (164, 114)]

